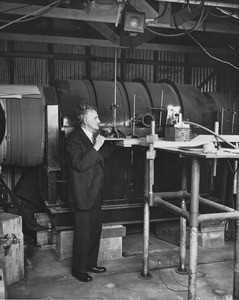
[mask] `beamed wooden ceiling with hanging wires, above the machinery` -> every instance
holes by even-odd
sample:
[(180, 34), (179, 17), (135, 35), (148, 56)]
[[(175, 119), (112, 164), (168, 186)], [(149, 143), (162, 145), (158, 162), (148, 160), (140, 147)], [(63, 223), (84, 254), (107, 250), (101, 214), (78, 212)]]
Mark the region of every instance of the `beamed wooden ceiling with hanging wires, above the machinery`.
[[(126, 11), (145, 13), (144, 33), (124, 30)], [(6, 0), (0, 39), (132, 49), (201, 44), (237, 54), (238, 19), (237, 0)]]

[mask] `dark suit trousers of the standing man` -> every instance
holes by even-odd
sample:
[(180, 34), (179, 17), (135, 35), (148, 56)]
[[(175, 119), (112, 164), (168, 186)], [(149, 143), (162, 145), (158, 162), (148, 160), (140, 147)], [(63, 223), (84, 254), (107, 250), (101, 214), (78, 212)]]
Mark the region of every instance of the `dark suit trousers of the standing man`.
[(89, 210), (76, 210), (73, 238), (73, 265), (75, 273), (86, 273), (97, 266), (102, 231), (102, 190), (99, 190), (94, 206)]

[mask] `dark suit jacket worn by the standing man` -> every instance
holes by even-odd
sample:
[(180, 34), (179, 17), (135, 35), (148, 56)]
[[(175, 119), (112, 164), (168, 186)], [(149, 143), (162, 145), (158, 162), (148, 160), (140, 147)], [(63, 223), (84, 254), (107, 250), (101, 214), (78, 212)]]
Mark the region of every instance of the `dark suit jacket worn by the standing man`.
[(96, 151), (81, 128), (67, 138), (66, 150), (69, 166), (68, 202), (76, 209), (88, 210), (96, 200), (104, 181), (104, 159), (107, 152), (101, 147)]

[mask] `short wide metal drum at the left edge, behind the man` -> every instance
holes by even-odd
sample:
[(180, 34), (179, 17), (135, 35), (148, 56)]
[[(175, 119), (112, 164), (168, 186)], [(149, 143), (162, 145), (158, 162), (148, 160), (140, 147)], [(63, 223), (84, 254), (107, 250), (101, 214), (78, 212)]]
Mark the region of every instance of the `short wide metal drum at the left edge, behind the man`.
[(2, 98), (1, 106), (6, 128), (0, 146), (0, 165), (40, 165), (45, 144), (44, 98)]

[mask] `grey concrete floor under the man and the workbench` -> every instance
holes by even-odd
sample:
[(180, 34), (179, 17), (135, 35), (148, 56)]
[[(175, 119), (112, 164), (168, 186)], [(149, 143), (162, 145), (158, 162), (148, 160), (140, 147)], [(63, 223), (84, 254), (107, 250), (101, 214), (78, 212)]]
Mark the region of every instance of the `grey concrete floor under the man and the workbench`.
[[(142, 280), (142, 233), (123, 238), (124, 256), (100, 261), (108, 272), (82, 283), (71, 276), (71, 259), (58, 260), (54, 247), (25, 246), (25, 278), (7, 288), (9, 299), (180, 299), (186, 300), (188, 276), (175, 272), (178, 247), (150, 235), (149, 267)], [(197, 299), (232, 299), (233, 242), (198, 249)], [(188, 251), (188, 250), (187, 250)]]

